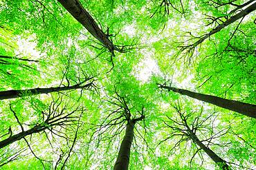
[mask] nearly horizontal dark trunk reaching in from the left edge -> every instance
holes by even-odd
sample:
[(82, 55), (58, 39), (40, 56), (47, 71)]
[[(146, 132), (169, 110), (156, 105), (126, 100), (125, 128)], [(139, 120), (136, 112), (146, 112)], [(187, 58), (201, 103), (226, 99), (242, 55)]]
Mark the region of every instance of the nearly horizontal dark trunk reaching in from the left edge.
[(33, 96), (37, 94), (48, 94), (52, 92), (61, 92), (70, 89), (83, 89), (91, 86), (92, 83), (88, 83), (86, 85), (73, 85), (68, 87), (49, 87), (49, 88), (35, 88), (35, 89), (22, 89), (22, 90), (6, 90), (0, 92), (0, 100), (8, 99), (8, 98), (19, 98), (21, 96)]

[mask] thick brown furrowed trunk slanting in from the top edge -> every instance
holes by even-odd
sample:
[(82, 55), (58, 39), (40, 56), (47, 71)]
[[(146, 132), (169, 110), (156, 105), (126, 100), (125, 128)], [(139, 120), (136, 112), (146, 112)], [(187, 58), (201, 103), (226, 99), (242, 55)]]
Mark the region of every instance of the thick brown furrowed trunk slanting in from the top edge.
[(109, 52), (113, 53), (113, 50), (118, 50), (113, 43), (109, 40), (107, 34), (104, 34), (94, 21), (93, 17), (87, 12), (80, 1), (78, 0), (57, 0), (64, 8), (78, 21), (86, 30), (88, 30), (95, 39), (98, 39), (102, 45), (108, 48)]

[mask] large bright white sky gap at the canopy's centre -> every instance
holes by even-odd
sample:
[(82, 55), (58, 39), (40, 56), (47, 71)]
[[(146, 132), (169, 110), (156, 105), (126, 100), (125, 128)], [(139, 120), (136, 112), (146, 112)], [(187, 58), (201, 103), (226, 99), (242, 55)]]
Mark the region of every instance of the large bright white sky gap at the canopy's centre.
[(142, 83), (146, 83), (152, 74), (160, 74), (159, 67), (154, 59), (151, 57), (146, 57), (141, 61), (136, 69), (135, 76)]

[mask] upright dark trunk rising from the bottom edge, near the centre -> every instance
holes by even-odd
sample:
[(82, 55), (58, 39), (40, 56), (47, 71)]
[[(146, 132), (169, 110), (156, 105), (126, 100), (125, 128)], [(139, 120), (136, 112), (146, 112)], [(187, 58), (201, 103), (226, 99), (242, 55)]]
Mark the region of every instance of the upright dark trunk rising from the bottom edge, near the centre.
[(125, 130), (125, 137), (122, 140), (118, 158), (116, 159), (115, 166), (113, 167), (114, 170), (127, 170), (129, 166), (129, 158), (130, 158), (130, 150), (131, 150), (131, 143), (134, 139), (134, 125), (135, 121), (130, 121), (127, 124)]

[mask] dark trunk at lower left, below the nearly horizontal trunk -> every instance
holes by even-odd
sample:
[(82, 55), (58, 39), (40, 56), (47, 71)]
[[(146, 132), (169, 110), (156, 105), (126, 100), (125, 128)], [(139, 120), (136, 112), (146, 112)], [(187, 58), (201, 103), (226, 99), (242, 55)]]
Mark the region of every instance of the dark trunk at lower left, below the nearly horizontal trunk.
[(12, 142), (16, 142), (17, 140), (21, 140), (25, 136), (28, 136), (30, 134), (38, 133), (39, 131), (43, 131), (46, 129), (46, 127), (38, 125), (33, 127), (32, 129), (29, 129), (27, 131), (21, 131), (19, 134), (16, 134), (14, 136), (10, 136), (9, 138), (6, 138), (5, 140), (0, 141), (0, 149), (3, 147), (6, 147), (7, 145), (10, 145)]

